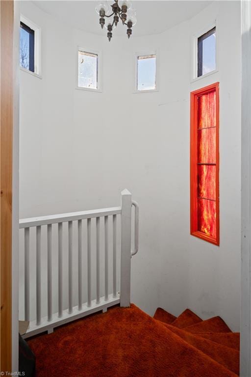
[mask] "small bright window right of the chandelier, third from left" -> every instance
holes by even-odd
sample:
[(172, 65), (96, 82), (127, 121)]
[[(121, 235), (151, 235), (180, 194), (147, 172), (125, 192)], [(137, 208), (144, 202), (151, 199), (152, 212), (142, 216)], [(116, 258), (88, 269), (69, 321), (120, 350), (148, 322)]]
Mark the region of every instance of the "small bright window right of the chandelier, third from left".
[(137, 91), (156, 90), (156, 54), (137, 56)]

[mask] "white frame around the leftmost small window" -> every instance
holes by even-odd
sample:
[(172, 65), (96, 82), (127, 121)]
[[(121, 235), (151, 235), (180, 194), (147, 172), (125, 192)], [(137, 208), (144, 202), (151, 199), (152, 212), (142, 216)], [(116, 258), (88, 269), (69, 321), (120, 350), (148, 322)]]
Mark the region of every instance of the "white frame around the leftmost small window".
[(33, 75), (35, 77), (38, 77), (39, 79), (42, 79), (42, 72), (41, 72), (41, 27), (38, 27), (36, 24), (34, 24), (32, 21), (28, 20), (22, 14), (20, 16), (20, 21), (23, 22), (23, 24), (30, 27), (32, 30), (34, 30), (34, 72), (31, 72), (24, 67), (20, 67), (20, 69), (24, 72), (29, 73), (30, 75)]

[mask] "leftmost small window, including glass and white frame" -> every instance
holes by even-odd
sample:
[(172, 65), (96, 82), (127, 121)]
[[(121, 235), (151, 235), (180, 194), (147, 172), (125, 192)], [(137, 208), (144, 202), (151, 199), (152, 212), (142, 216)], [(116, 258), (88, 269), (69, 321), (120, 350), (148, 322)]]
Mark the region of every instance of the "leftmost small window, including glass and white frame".
[(35, 75), (40, 74), (40, 28), (21, 16), (20, 67)]

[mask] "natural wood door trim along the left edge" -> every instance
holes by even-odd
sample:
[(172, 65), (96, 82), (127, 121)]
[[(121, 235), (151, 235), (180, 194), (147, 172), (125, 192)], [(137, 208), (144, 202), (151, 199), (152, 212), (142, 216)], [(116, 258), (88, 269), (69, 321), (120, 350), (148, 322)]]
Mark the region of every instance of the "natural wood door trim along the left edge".
[(14, 2), (0, 1), (0, 370), (12, 371)]

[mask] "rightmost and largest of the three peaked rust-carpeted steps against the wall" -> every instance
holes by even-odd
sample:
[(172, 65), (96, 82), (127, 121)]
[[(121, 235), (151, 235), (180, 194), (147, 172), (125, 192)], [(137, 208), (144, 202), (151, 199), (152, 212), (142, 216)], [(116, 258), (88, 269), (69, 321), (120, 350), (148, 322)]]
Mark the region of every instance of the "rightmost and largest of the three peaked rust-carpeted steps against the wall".
[[(173, 322), (175, 325), (175, 322)], [(232, 332), (221, 317), (213, 317), (185, 327), (189, 332)]]

